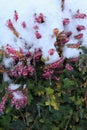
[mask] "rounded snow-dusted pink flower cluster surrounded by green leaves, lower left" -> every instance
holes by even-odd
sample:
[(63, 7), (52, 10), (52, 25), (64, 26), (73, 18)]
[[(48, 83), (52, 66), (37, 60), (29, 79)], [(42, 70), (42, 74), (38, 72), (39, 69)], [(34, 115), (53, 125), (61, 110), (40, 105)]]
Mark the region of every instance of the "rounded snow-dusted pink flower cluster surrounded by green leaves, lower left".
[(27, 96), (21, 91), (12, 93), (11, 106), (15, 106), (16, 109), (20, 109), (22, 106), (27, 105)]

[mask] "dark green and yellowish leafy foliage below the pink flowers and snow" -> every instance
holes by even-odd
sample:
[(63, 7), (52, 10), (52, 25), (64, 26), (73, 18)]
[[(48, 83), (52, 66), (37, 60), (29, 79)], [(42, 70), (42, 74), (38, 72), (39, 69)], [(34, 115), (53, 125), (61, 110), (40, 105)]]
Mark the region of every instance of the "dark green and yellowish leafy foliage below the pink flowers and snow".
[[(63, 67), (60, 80), (52, 80), (51, 85), (49, 79), (38, 78), (43, 64), (37, 66), (37, 81), (35, 77), (14, 78), (15, 83), (26, 84), (28, 103), (16, 110), (8, 100), (0, 114), (0, 130), (86, 130), (87, 55), (82, 54), (79, 61), (70, 64), (73, 70)], [(1, 78), (0, 101), (7, 86)]]

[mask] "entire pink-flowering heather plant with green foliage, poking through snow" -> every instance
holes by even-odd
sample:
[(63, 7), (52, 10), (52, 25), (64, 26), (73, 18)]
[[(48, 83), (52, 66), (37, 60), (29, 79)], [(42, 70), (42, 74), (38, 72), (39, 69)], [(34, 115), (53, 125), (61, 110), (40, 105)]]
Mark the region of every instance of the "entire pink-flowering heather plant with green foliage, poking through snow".
[[(75, 18), (85, 18), (78, 11)], [(14, 19), (18, 21), (18, 13)], [(45, 16), (34, 14), (35, 22), (42, 24)], [(69, 24), (63, 20), (63, 25)], [(22, 22), (22, 27), (27, 27)], [(19, 36), (12, 21), (7, 27), (16, 38)], [(39, 40), (42, 35), (34, 27)], [(78, 26), (77, 30), (85, 27)], [(49, 55), (57, 51), (59, 60), (46, 64), (42, 49), (25, 42), (24, 49), (7, 44), (0, 49), (0, 130), (86, 130), (87, 128), (87, 48), (82, 46), (83, 34), (76, 35), (76, 44), (69, 44), (72, 32), (53, 30), (54, 46)], [(67, 44), (66, 44), (67, 43)], [(77, 57), (66, 58), (64, 47), (82, 49)]]

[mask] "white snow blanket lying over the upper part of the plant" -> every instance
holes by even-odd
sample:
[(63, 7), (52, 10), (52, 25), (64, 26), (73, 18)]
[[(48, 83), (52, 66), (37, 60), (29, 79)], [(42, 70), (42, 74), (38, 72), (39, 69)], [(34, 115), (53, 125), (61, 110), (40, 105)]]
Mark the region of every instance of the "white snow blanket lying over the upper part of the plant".
[[(61, 0), (0, 0), (0, 46), (5, 46), (10, 44), (15, 49), (20, 47), (24, 49), (24, 41), (29, 45), (34, 45), (33, 48), (42, 48), (43, 57), (49, 57), (50, 60), (47, 63), (52, 63), (57, 61), (60, 57), (58, 53), (50, 56), (49, 49), (55, 49), (54, 42), (55, 37), (53, 35), (53, 29), (58, 28), (59, 31), (72, 31), (73, 35), (70, 38), (69, 43), (77, 43), (77, 40), (73, 38), (74, 35), (79, 34), (76, 30), (78, 24), (84, 25), (87, 28), (87, 18), (86, 19), (73, 19), (72, 16), (79, 9), (81, 13), (87, 14), (87, 1), (83, 0), (65, 0), (64, 11), (61, 10)], [(18, 12), (19, 19), (17, 22), (14, 21), (13, 14), (14, 10)], [(42, 24), (37, 24), (34, 22), (34, 14), (43, 13), (45, 16), (45, 22)], [(11, 19), (16, 30), (19, 32), (20, 37), (23, 40), (17, 39), (14, 34), (7, 28), (6, 22)], [(63, 18), (69, 18), (70, 24), (63, 27)], [(21, 26), (22, 21), (25, 21), (27, 28), (24, 29)], [(39, 32), (42, 35), (41, 39), (36, 39), (33, 29), (34, 25), (39, 26)], [(84, 34), (83, 45), (87, 46), (87, 29), (82, 31)], [(72, 48), (64, 48), (64, 56), (67, 58), (77, 57), (79, 51)], [(9, 62), (9, 61), (7, 61)], [(8, 64), (7, 64), (8, 65)]]

